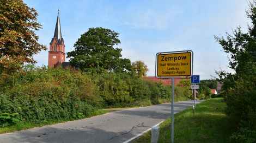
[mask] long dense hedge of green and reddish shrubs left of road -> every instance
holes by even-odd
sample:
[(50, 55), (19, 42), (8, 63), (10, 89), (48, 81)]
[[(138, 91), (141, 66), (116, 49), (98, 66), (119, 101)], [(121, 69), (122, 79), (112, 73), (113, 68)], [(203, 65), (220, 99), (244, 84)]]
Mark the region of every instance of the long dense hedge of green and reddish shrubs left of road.
[[(62, 68), (34, 67), (0, 77), (0, 125), (17, 121), (80, 119), (98, 108), (147, 106), (170, 101), (169, 86), (144, 81), (132, 73), (98, 74)], [(175, 88), (176, 99), (189, 89)]]

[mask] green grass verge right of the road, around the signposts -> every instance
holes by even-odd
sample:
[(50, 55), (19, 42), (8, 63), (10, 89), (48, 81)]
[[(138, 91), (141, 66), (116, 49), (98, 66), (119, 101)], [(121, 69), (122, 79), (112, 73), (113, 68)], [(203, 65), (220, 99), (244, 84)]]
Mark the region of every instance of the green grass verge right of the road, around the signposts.
[[(227, 142), (235, 130), (223, 113), (226, 107), (222, 98), (210, 99), (174, 115), (174, 142)], [(170, 118), (160, 125), (159, 142), (170, 142)], [(151, 142), (151, 132), (133, 142)]]

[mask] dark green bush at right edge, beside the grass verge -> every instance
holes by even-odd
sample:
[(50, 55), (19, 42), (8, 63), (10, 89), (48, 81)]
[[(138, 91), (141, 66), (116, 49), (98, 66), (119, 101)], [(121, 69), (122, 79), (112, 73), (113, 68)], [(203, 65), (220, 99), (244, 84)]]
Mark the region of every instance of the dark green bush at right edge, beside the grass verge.
[[(227, 103), (225, 113), (233, 119), (235, 126), (240, 128), (230, 139), (236, 142), (255, 142), (256, 132), (256, 67), (248, 67), (243, 75), (235, 75), (237, 79), (232, 86), (225, 89), (224, 100)], [(227, 81), (224, 81), (224, 84)], [(229, 83), (230, 84), (230, 83)], [(227, 86), (227, 85), (226, 85)], [(253, 140), (254, 139), (254, 140)], [(253, 140), (253, 141), (252, 141)]]

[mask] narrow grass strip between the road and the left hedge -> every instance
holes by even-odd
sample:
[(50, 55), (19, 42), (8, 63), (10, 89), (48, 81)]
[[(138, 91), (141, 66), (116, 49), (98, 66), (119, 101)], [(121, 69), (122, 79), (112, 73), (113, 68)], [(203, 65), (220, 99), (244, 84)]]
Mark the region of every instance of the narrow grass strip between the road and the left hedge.
[[(106, 113), (109, 113), (109, 112), (120, 111), (120, 110), (123, 110), (123, 109), (127, 109), (127, 108), (99, 109), (96, 112), (94, 112), (93, 114), (90, 114), (89, 116), (84, 117), (83, 119), (90, 118), (90, 117), (96, 116), (96, 115), (106, 114)], [(70, 121), (70, 119), (45, 121), (45, 122), (41, 122), (41, 123), (19, 122), (19, 124), (16, 124), (16, 125), (7, 126), (7, 127), (0, 127), (0, 134), (14, 132), (14, 131), (20, 131), (20, 130), (23, 130), (23, 129), (29, 129), (29, 128), (34, 128), (34, 127), (41, 127), (41, 126), (45, 126), (45, 125), (53, 125), (53, 124), (58, 124), (60, 122), (66, 122), (66, 121)]]

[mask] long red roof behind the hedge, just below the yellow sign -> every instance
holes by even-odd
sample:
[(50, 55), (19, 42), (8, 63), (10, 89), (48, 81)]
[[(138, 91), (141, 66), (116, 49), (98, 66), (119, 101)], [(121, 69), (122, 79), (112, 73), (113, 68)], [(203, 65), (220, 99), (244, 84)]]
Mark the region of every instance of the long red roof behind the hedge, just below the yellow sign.
[[(143, 80), (146, 80), (146, 81), (153, 81), (153, 82), (157, 82), (157, 83), (162, 83), (164, 86), (170, 86), (172, 85), (172, 79), (159, 79), (155, 76), (146, 76), (146, 77), (143, 77)], [(182, 79), (174, 79), (174, 85), (178, 85), (178, 83), (181, 81)]]

